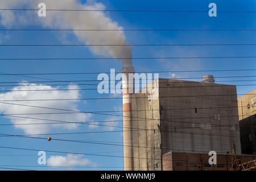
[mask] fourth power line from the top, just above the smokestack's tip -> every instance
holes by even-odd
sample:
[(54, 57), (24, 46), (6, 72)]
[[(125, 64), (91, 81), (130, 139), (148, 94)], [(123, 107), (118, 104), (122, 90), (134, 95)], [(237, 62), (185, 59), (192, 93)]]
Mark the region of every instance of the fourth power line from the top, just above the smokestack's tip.
[(18, 60), (26, 60), (26, 61), (32, 61), (32, 60), (130, 60), (130, 59), (137, 59), (137, 60), (141, 60), (141, 59), (148, 59), (148, 60), (152, 60), (152, 59), (233, 59), (233, 58), (255, 58), (256, 56), (211, 56), (211, 57), (82, 57), (82, 58), (78, 58), (78, 57), (73, 57), (73, 58), (11, 58), (11, 59), (3, 59), (1, 58), (1, 61), (18, 61)]

